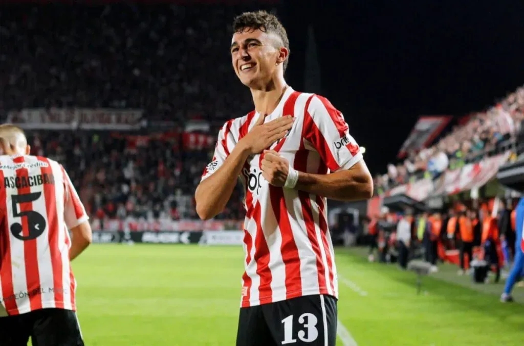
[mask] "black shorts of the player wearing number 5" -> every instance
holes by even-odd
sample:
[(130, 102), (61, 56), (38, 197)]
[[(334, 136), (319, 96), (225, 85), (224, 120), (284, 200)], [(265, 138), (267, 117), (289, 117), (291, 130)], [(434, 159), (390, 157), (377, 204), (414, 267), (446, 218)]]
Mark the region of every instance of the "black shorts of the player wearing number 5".
[(77, 314), (64, 309), (40, 309), (0, 317), (0, 345), (84, 346)]

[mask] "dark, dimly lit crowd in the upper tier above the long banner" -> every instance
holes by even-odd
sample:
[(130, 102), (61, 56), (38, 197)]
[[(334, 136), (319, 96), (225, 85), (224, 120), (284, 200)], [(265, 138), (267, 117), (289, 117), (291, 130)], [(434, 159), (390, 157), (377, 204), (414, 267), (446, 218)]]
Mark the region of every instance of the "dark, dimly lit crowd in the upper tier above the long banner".
[(243, 9), (3, 6), (0, 112), (115, 107), (180, 123), (234, 118), (251, 107), (229, 53), (231, 23)]

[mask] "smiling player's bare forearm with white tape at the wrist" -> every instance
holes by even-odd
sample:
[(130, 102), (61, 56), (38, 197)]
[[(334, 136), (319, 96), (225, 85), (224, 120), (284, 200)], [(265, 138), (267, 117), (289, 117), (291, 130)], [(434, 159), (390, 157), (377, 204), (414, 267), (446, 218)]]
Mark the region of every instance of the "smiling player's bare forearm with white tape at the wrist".
[(373, 196), (373, 180), (366, 172), (352, 170), (331, 174), (299, 172), (295, 189), (337, 201), (359, 201)]

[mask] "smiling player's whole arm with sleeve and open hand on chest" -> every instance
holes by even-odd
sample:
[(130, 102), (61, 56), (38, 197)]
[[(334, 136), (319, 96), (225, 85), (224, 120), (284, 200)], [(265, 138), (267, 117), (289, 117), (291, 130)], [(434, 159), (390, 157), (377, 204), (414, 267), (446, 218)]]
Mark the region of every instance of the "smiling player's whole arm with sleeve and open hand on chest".
[(196, 213), (202, 220), (209, 220), (224, 210), (249, 155), (260, 153), (284, 137), (293, 124), (291, 117), (282, 117), (266, 124), (264, 118), (260, 116), (253, 129), (234, 146), (229, 155), (224, 148), (228, 140), (224, 128), (220, 131), (214, 161), (204, 171), (195, 191)]

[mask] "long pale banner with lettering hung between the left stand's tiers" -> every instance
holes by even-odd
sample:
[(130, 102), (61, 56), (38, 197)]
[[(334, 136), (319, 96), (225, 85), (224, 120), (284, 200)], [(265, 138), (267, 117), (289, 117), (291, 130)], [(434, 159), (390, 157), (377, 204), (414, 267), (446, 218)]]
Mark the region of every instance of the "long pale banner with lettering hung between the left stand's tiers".
[(25, 108), (7, 113), (7, 122), (26, 130), (138, 130), (140, 109)]

